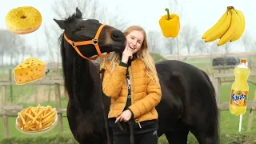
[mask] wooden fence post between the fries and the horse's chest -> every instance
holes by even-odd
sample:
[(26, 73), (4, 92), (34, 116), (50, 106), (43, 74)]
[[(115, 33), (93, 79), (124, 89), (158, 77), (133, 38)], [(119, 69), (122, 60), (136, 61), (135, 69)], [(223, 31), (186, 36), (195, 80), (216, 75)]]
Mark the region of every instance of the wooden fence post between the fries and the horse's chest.
[(54, 92), (55, 92), (56, 108), (58, 110), (58, 131), (63, 131), (62, 110), (61, 110), (61, 90), (60, 90), (59, 83), (54, 83)]

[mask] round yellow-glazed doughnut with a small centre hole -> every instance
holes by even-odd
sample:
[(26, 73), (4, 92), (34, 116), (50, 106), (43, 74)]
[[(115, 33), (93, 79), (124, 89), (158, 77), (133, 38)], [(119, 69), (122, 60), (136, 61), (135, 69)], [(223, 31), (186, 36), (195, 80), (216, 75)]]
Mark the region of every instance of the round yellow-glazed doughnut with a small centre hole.
[(6, 28), (14, 34), (29, 34), (38, 30), (42, 15), (32, 6), (22, 6), (6, 14)]

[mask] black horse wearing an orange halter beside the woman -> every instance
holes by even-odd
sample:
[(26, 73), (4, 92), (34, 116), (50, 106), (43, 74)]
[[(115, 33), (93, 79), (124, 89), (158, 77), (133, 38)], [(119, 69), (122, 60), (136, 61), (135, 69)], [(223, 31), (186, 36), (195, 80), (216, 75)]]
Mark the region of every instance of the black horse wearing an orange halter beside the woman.
[[(78, 8), (66, 20), (54, 21), (64, 30), (59, 41), (69, 95), (67, 119), (70, 130), (79, 143), (105, 144), (104, 114), (109, 110), (110, 99), (103, 98), (105, 111), (102, 110), (99, 66), (90, 60), (94, 55), (124, 50), (126, 38), (114, 27), (102, 27), (98, 20), (82, 19)], [(96, 33), (98, 41), (94, 39)], [(94, 46), (90, 42), (98, 42), (101, 51), (95, 49), (97, 44)], [(218, 144), (218, 107), (214, 86), (207, 74), (179, 61), (158, 62), (156, 68), (162, 86), (162, 100), (157, 106), (158, 136), (165, 134), (169, 143), (183, 144), (190, 131), (200, 144)]]

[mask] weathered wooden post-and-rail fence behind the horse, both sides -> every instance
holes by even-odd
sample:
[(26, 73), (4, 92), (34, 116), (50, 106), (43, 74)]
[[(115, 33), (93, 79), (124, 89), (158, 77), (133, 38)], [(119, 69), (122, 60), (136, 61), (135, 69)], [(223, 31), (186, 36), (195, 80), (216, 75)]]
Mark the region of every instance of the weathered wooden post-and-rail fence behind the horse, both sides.
[[(250, 76), (256, 76), (256, 72), (251, 72)], [(220, 85), (222, 83), (221, 78), (226, 77), (234, 77), (234, 74), (214, 74), (213, 84), (216, 91), (216, 99), (218, 102), (218, 110), (229, 110), (229, 102), (220, 102)], [(2, 104), (0, 106), (0, 116), (3, 119), (3, 134), (4, 138), (9, 137), (8, 130), (8, 117), (17, 116), (18, 112), (23, 109), (23, 106), (6, 106), (7, 103), (7, 94), (6, 94), (6, 86), (15, 85), (15, 82), (0, 82), (0, 86), (2, 87)], [(60, 86), (63, 85), (63, 80), (38, 80), (36, 82), (30, 82), (26, 85), (54, 85), (54, 93), (55, 93), (55, 102), (56, 102), (56, 110), (58, 110), (58, 131), (63, 130), (62, 126), (62, 113), (66, 113), (66, 109), (61, 109), (61, 92)], [(256, 91), (256, 90), (255, 90)], [(250, 130), (250, 126), (252, 123), (254, 107), (256, 106), (256, 93), (254, 94), (254, 102), (247, 103), (247, 109), (250, 109), (250, 118), (248, 119), (248, 129)], [(219, 114), (219, 120), (221, 115)], [(221, 121), (219, 121), (221, 122)]]

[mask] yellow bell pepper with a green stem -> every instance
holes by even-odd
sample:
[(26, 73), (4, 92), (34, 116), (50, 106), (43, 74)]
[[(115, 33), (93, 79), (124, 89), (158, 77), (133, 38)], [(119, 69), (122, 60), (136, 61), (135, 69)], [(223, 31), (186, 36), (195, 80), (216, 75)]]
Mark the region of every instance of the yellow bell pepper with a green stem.
[(180, 30), (180, 22), (177, 14), (169, 14), (169, 9), (166, 8), (167, 14), (163, 15), (159, 20), (159, 25), (162, 34), (166, 38), (176, 38)]

